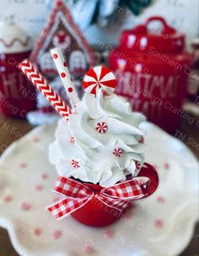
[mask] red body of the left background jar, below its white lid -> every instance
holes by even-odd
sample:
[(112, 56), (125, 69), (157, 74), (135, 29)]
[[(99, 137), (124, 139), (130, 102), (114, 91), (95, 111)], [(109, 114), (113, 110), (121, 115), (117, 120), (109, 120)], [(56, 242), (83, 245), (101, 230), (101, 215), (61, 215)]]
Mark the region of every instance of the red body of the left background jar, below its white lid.
[(0, 54), (0, 113), (8, 117), (25, 118), (36, 108), (35, 88), (17, 68), (29, 54)]

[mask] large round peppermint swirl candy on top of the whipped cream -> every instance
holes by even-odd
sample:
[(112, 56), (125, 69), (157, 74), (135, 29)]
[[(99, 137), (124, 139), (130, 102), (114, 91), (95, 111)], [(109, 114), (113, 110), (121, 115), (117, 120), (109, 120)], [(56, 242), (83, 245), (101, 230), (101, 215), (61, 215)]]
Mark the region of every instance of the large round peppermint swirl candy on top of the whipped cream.
[(109, 68), (98, 66), (91, 68), (83, 79), (83, 88), (86, 92), (96, 95), (100, 88), (103, 95), (113, 94), (116, 86), (116, 77)]

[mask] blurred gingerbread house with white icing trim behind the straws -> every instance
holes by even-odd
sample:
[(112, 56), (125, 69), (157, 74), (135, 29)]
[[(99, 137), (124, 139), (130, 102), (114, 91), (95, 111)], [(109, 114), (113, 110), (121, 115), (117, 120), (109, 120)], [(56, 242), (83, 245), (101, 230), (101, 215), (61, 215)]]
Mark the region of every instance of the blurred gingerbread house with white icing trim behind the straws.
[(56, 46), (62, 48), (74, 84), (79, 87), (85, 72), (94, 65), (94, 53), (78, 25), (74, 23), (66, 4), (61, 0), (56, 1), (47, 25), (30, 56), (40, 72), (49, 80), (55, 79), (57, 75), (50, 53), (51, 48)]

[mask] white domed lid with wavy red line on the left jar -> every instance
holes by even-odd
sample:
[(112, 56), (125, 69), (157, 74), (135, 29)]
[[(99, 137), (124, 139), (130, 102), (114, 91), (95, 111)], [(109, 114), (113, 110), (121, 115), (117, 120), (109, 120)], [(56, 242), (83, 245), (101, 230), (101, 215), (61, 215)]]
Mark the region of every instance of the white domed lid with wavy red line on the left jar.
[(31, 49), (31, 37), (13, 19), (5, 18), (0, 22), (0, 53), (28, 52)]

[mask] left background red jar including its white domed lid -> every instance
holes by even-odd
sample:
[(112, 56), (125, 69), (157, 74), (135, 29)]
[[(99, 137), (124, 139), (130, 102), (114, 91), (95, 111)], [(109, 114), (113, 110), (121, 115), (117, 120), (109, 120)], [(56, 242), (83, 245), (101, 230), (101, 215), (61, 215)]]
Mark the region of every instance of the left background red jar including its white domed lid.
[(12, 19), (0, 23), (0, 113), (26, 117), (35, 109), (35, 89), (18, 64), (29, 57), (32, 41)]

